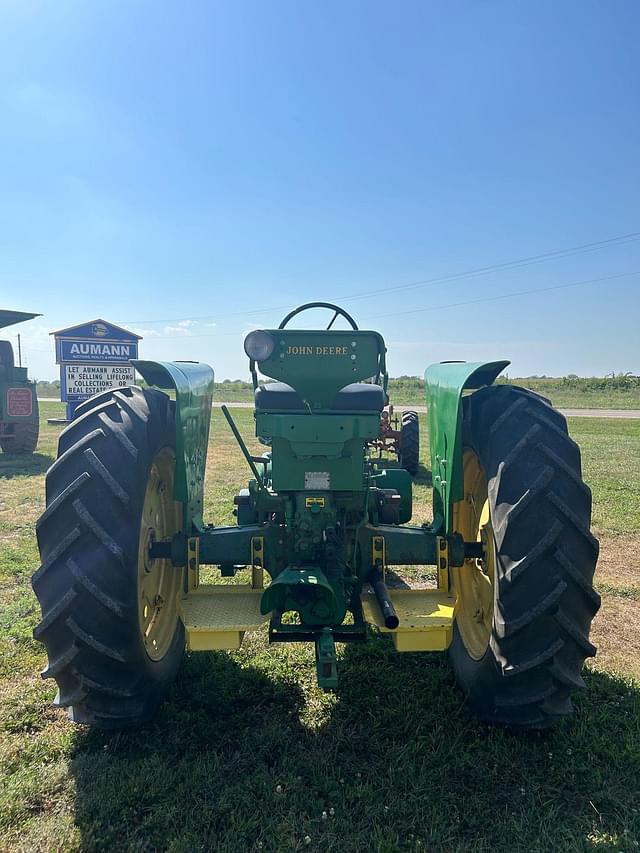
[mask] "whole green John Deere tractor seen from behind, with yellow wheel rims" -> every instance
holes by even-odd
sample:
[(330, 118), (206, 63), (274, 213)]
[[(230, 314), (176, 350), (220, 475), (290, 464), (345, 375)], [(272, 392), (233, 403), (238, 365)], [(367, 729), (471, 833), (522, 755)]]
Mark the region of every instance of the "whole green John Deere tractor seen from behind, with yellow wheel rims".
[[(327, 329), (289, 327), (318, 306), (334, 312)], [(340, 316), (350, 328), (333, 328)], [(223, 407), (252, 472), (233, 526), (203, 520), (208, 366), (136, 361), (150, 388), (87, 400), (61, 433), (33, 576), (57, 704), (81, 723), (140, 724), (185, 645), (237, 649), (268, 624), (272, 643), (315, 645), (325, 689), (337, 686), (336, 643), (373, 630), (399, 652), (448, 649), (483, 720), (541, 729), (571, 713), (600, 599), (591, 494), (564, 417), (494, 385), (506, 361), (429, 367), (433, 521), (410, 526), (409, 473), (372, 458), (382, 336), (310, 303), (244, 347), (265, 452), (249, 453)], [(435, 567), (437, 584), (393, 583), (408, 565)], [(250, 582), (201, 583), (201, 566), (250, 569)]]

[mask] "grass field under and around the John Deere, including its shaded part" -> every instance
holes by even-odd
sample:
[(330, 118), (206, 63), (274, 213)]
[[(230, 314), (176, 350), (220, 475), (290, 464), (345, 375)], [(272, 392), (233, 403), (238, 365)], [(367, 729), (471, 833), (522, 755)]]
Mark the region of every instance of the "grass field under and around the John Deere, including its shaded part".
[[(43, 404), (43, 418), (61, 409)], [(250, 436), (251, 412), (234, 417)], [(0, 456), (0, 851), (637, 850), (640, 422), (570, 429), (593, 489), (603, 606), (589, 690), (550, 734), (478, 723), (446, 655), (347, 647), (340, 687), (324, 694), (312, 649), (269, 648), (265, 633), (186, 656), (151, 724), (106, 734), (69, 723), (38, 676), (33, 531), (59, 431), (45, 420), (33, 458)], [(218, 411), (208, 520), (232, 520), (246, 479)], [(426, 476), (415, 491), (422, 522)]]

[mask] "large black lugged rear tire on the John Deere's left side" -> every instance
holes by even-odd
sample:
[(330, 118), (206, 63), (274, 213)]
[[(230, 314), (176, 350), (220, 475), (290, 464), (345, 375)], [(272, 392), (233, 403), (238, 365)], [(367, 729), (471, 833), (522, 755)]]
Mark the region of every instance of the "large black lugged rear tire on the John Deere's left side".
[[(156, 711), (184, 651), (176, 619), (165, 656), (146, 653), (138, 621), (138, 539), (151, 463), (175, 448), (173, 403), (137, 387), (106, 391), (76, 409), (47, 472), (37, 523), (42, 607), (34, 637), (47, 649), (44, 678), (72, 720), (139, 725)], [(176, 569), (176, 571), (178, 571)]]

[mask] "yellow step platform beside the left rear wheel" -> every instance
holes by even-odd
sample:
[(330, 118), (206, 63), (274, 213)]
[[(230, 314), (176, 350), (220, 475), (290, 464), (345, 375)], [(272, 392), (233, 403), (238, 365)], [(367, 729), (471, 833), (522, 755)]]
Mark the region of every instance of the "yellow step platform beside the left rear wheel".
[(245, 631), (269, 621), (260, 613), (263, 590), (240, 584), (199, 586), (180, 601), (187, 648), (194, 652), (239, 649)]

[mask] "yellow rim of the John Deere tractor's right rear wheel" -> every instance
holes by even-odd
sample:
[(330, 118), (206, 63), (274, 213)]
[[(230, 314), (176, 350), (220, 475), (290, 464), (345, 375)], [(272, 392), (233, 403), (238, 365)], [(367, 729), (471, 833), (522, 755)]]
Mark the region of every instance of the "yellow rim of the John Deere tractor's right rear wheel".
[(454, 530), (465, 542), (482, 542), (483, 560), (469, 558), (452, 570), (456, 594), (455, 618), (462, 642), (474, 660), (480, 660), (491, 637), (494, 607), (496, 549), (487, 499), (487, 477), (470, 448), (463, 459), (464, 499), (453, 506)]

